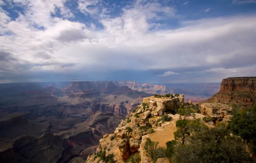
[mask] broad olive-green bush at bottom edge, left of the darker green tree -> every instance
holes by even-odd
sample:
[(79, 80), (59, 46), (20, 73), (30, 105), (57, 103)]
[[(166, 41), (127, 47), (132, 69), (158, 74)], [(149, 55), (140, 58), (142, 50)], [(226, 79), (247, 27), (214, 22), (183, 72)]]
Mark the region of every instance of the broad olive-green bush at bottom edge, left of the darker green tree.
[(208, 128), (200, 121), (192, 122), (187, 125), (186, 143), (177, 142), (174, 145), (171, 162), (253, 163), (244, 141), (238, 136), (230, 136), (225, 124)]

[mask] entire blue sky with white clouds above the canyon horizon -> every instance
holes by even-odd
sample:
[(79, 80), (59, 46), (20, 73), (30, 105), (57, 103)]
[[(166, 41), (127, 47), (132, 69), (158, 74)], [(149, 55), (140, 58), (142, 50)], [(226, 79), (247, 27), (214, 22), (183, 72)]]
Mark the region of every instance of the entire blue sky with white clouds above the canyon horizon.
[(256, 0), (0, 0), (0, 83), (256, 76)]

